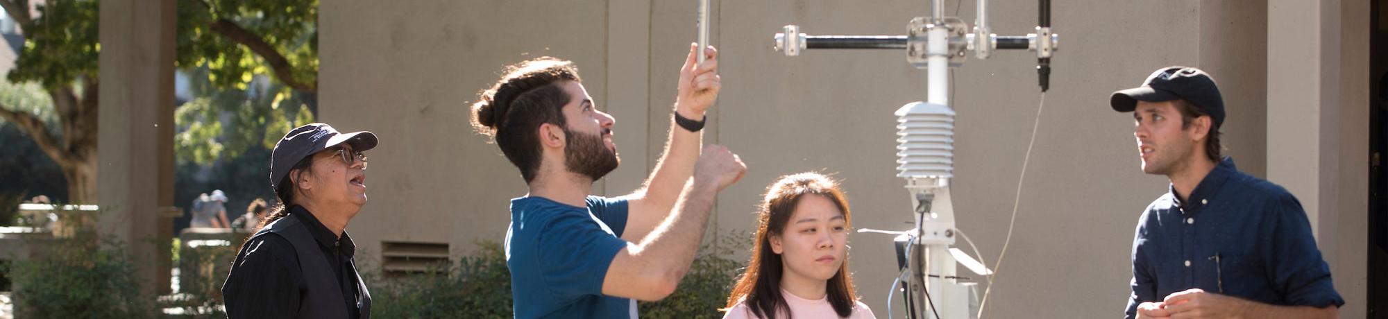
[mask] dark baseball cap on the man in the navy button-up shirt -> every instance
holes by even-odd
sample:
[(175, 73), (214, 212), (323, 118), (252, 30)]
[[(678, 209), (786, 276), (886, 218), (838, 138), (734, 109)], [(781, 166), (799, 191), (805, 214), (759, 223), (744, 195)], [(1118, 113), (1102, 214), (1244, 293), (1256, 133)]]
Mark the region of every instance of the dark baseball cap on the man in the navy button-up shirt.
[(1117, 90), (1109, 96), (1113, 111), (1131, 112), (1137, 101), (1170, 101), (1181, 98), (1203, 110), (1214, 121), (1214, 128), (1224, 123), (1224, 98), (1209, 74), (1198, 68), (1166, 67), (1152, 72), (1142, 86)]

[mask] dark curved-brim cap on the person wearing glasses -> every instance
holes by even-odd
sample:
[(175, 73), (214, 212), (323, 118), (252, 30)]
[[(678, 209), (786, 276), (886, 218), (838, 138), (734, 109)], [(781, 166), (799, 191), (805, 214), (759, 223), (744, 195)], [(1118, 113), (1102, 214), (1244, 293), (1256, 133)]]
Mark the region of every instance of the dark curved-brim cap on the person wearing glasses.
[(307, 123), (294, 128), (275, 143), (275, 150), (269, 155), (269, 186), (279, 187), (279, 182), (289, 175), (294, 164), (314, 153), (328, 150), (337, 144), (347, 143), (354, 151), (366, 151), (376, 147), (376, 135), (371, 132), (337, 133), (326, 123)]

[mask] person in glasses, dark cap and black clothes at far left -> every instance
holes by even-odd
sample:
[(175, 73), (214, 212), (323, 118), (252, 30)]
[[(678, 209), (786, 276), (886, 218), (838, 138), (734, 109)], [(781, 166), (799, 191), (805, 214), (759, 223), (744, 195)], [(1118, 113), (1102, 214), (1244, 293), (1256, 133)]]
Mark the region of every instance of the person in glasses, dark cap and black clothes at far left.
[(371, 132), (298, 126), (271, 153), (279, 205), (242, 244), (222, 286), (229, 318), (371, 318), (347, 222), (366, 204)]

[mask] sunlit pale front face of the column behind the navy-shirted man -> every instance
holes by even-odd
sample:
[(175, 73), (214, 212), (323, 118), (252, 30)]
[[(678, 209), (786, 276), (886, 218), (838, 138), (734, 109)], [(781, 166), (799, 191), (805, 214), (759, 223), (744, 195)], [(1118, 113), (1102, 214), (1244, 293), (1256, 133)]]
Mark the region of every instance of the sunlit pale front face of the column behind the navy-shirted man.
[(1339, 146), (1332, 130), (1339, 37), (1327, 36), (1339, 32), (1339, 10), (1327, 6), (1267, 4), (1267, 179), (1301, 200), (1321, 247), (1320, 233), (1334, 226), (1323, 221), (1332, 218), (1335, 202), (1321, 198), (1332, 196), (1332, 155)]

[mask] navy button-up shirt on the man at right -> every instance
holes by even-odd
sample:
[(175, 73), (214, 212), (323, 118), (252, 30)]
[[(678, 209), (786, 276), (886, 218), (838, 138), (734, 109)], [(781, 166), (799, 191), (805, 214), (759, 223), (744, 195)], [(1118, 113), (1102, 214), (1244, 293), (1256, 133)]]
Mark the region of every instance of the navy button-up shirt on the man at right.
[(1127, 318), (1138, 304), (1188, 288), (1273, 305), (1345, 304), (1296, 197), (1238, 172), (1227, 157), (1187, 202), (1170, 190), (1142, 212), (1131, 286)]

